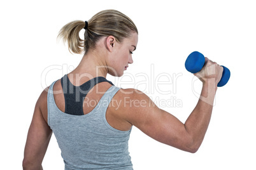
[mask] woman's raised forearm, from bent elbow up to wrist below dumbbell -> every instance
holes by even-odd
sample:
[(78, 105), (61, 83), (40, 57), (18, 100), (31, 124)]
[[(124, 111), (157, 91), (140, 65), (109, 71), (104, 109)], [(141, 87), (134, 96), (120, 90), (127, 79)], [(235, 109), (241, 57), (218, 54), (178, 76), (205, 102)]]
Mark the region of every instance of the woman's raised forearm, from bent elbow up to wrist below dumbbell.
[(192, 138), (192, 148), (194, 150), (198, 150), (208, 129), (216, 91), (215, 82), (205, 82), (200, 99), (185, 122), (185, 128)]

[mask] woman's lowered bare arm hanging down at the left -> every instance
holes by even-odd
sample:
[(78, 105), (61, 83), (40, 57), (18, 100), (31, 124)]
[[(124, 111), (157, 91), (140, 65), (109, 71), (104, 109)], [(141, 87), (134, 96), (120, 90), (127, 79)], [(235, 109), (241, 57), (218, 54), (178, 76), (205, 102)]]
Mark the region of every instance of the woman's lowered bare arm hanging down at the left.
[(23, 166), (35, 166), (35, 169), (37, 166), (41, 166), (52, 136), (52, 130), (44, 118), (45, 114), (47, 115), (47, 92), (44, 90), (39, 96), (34, 108), (34, 114), (25, 144)]

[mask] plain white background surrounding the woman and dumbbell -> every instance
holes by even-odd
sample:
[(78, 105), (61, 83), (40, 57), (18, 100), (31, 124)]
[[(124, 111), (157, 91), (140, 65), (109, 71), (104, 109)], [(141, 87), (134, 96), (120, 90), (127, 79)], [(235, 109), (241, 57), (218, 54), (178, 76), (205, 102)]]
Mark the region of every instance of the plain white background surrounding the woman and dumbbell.
[[(134, 88), (144, 80), (136, 77), (138, 73), (148, 75), (152, 88), (146, 91), (146, 84), (137, 88), (152, 99), (174, 96), (180, 100), (181, 107), (159, 107), (182, 122), (196, 106), (195, 94), (201, 89), (199, 81), (192, 89), (194, 75), (184, 67), (187, 56), (200, 51), (231, 70), (227, 85), (218, 88), (199, 151), (189, 154), (169, 147), (134, 127), (129, 141), (134, 169), (255, 169), (255, 8), (253, 1), (1, 1), (1, 169), (22, 169), (36, 100), (46, 86), (60, 79), (58, 68), (76, 67), (82, 58), (57, 42), (60, 28), (73, 20), (89, 20), (106, 9), (129, 16), (139, 30), (134, 63), (125, 71), (129, 76), (115, 79), (108, 75), (107, 79), (116, 86)], [(55, 70), (45, 74), (49, 67)], [(181, 74), (173, 84), (159, 86), (171, 91), (169, 95), (153, 85), (162, 74)], [(125, 83), (131, 75), (135, 82)], [(162, 77), (161, 81), (167, 80)], [(54, 135), (43, 167), (64, 169)]]

